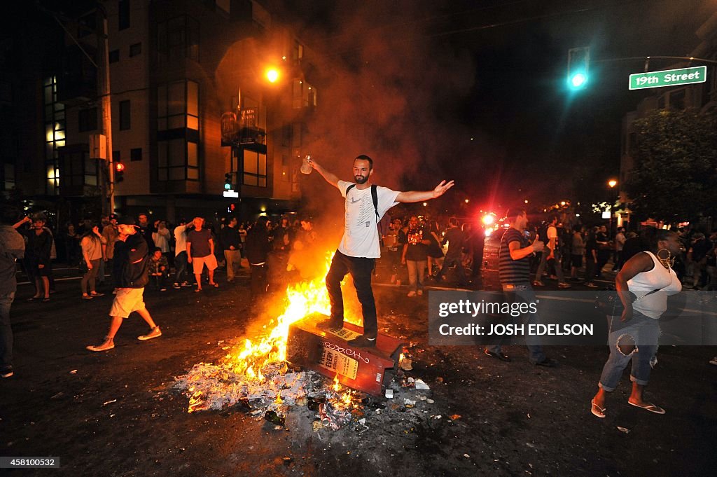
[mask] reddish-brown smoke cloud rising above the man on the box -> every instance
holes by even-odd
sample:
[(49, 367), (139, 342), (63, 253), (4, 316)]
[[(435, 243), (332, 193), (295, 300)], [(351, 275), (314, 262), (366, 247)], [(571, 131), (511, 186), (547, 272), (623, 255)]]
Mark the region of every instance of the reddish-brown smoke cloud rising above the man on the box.
[[(318, 108), (305, 150), (344, 180), (351, 180), (353, 158), (366, 154), (374, 159), (374, 184), (396, 190), (432, 189), (442, 179), (460, 184), (455, 161), (483, 159), (457, 147), (470, 139), (455, 119), (473, 87), (470, 52), (431, 36), (431, 19), (440, 12), (425, 3), (328, 5), (320, 22), (293, 26), (317, 52), (306, 55), (315, 66), (307, 80)], [(320, 182), (315, 173), (302, 177), (303, 199), (317, 212), (318, 227), (341, 224), (343, 200)]]

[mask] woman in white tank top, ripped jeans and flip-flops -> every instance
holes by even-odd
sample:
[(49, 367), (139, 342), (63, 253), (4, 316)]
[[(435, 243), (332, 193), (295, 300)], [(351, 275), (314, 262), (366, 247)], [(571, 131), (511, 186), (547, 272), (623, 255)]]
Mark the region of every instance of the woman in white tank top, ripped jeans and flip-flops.
[(642, 399), (652, 366), (657, 362), (658, 318), (667, 310), (668, 296), (679, 293), (682, 284), (672, 269), (672, 260), (680, 253), (678, 235), (670, 230), (650, 227), (643, 232), (648, 251), (627, 260), (615, 278), (615, 288), (625, 310), (612, 317), (609, 334), (610, 357), (607, 359), (593, 397), (590, 411), (605, 417), (605, 398), (619, 382), (622, 372), (632, 361), (632, 393), (627, 403), (641, 409), (665, 414), (662, 407)]

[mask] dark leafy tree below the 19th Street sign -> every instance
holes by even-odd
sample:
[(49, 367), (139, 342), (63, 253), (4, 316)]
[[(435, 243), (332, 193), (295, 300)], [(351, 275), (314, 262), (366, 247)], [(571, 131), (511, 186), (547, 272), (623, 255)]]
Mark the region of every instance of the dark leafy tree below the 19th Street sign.
[(717, 203), (717, 118), (655, 110), (634, 123), (625, 191), (640, 219), (693, 221)]

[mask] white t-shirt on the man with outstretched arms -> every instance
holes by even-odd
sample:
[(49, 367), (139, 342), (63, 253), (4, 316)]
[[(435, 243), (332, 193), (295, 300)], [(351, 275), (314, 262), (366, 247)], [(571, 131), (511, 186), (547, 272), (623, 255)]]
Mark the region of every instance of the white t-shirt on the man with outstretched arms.
[[(346, 214), (344, 216), (343, 237), (338, 245), (338, 251), (348, 257), (379, 258), (381, 245), (379, 244), (379, 230), (374, 210), (374, 199), (371, 197), (371, 187), (359, 190), (351, 187), (346, 195), (346, 188), (353, 182), (338, 181), (338, 190), (346, 198)], [(400, 192), (387, 187), (376, 187), (379, 199), (379, 217), (384, 217), (388, 209), (398, 204), (396, 197)]]

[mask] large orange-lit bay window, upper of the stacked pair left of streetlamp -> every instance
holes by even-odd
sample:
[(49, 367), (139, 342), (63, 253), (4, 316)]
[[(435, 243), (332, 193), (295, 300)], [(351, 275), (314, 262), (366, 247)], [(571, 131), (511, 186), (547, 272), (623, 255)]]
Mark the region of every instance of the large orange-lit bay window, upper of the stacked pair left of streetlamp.
[(199, 131), (199, 83), (176, 81), (157, 88), (157, 131)]

